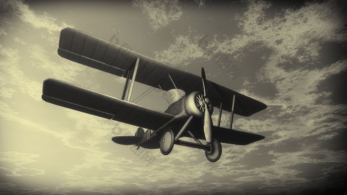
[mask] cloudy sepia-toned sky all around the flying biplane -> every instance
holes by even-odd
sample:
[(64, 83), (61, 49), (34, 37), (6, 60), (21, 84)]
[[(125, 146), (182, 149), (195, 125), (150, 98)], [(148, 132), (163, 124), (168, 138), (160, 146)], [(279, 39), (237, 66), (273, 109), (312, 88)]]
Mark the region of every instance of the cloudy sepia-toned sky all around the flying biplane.
[[(0, 194), (346, 193), (346, 4), (0, 0)], [(207, 79), (268, 105), (233, 122), (265, 139), (222, 143), (216, 163), (195, 148), (164, 156), (112, 142), (137, 127), (41, 99), (47, 78), (121, 96), (125, 79), (58, 56), (65, 27), (196, 75), (203, 66)], [(148, 88), (135, 83), (132, 97)], [(159, 90), (137, 103), (167, 108)]]

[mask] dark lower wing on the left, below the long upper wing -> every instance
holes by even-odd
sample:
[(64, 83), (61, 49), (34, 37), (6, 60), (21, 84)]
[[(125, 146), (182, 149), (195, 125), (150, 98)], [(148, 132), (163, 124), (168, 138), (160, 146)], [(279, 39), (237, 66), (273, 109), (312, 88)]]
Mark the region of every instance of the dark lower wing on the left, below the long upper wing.
[(46, 102), (151, 130), (174, 117), (52, 78), (44, 81), (42, 92)]

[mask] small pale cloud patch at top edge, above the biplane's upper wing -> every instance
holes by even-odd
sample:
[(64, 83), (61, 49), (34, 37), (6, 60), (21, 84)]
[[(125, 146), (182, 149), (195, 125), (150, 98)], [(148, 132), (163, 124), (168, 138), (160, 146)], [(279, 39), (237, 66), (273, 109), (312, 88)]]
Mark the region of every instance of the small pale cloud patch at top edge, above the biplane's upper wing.
[(132, 5), (147, 15), (150, 27), (154, 31), (168, 26), (183, 14), (178, 0), (133, 0)]

